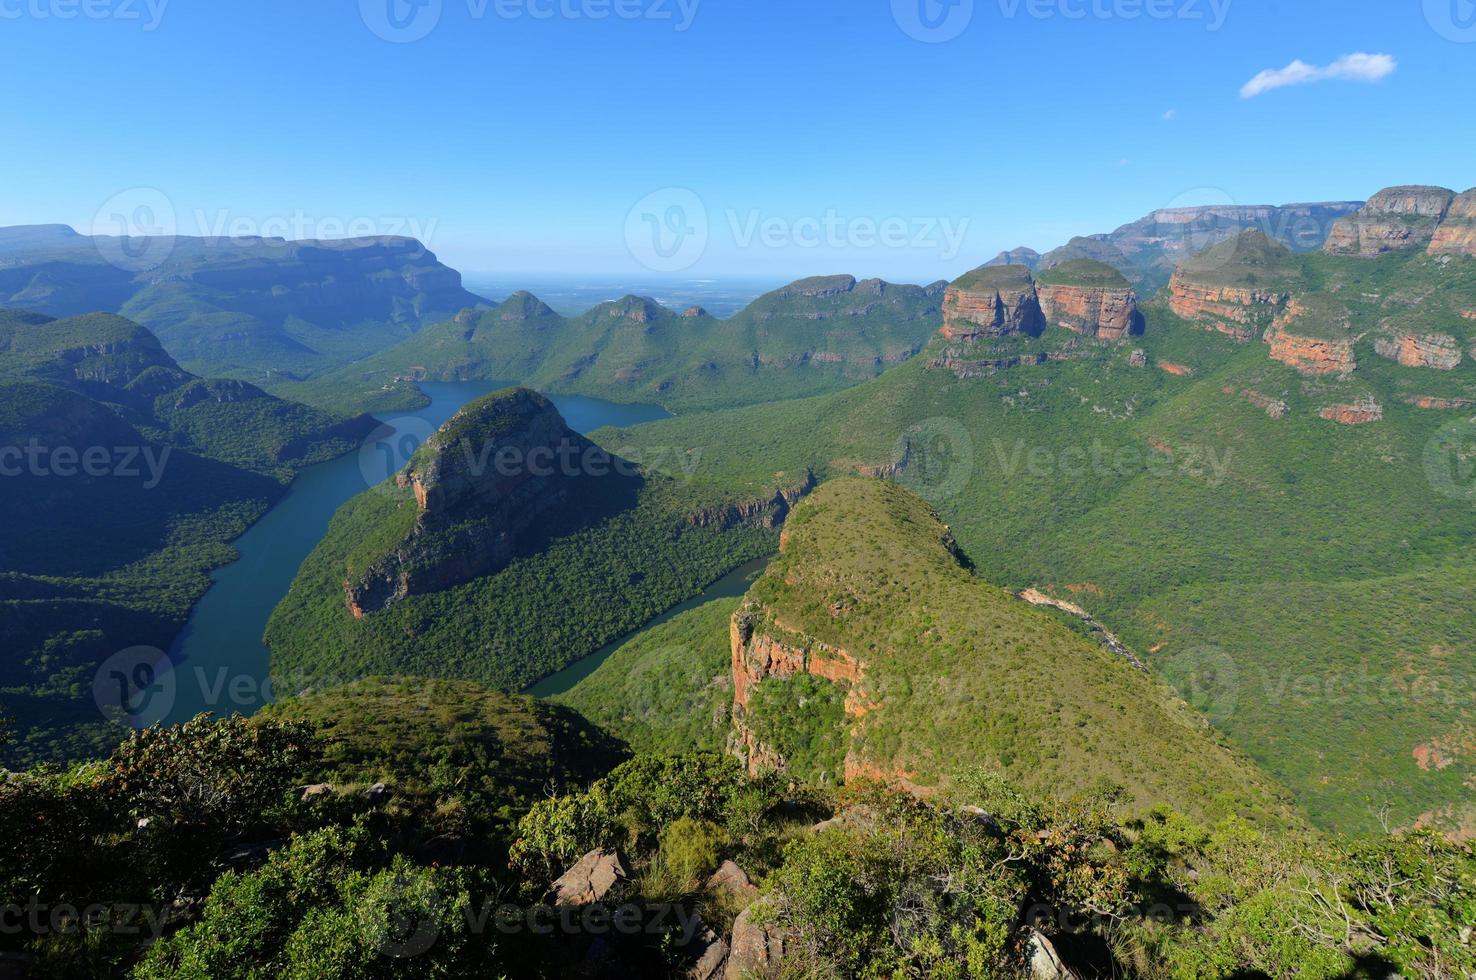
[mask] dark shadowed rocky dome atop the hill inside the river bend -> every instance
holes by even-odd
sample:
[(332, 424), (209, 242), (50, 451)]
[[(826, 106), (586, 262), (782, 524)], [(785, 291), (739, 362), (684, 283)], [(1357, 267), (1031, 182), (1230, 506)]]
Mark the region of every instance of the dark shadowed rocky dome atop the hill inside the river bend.
[(499, 571), (577, 494), (596, 483), (636, 481), (620, 475), (627, 466), (565, 427), (537, 393), (515, 388), (472, 401), (396, 477), (415, 494), (415, 522), (382, 558), (348, 570), (350, 614), (362, 618)]

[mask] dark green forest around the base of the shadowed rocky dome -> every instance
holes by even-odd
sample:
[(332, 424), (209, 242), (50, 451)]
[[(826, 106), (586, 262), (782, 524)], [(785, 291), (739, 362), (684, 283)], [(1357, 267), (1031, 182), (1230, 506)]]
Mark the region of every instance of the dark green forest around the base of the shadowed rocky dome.
[(344, 608), (345, 568), (353, 555), (378, 552), (399, 533), (396, 512), (413, 506), (404, 491), (384, 486), (334, 517), (267, 626), (279, 689), (314, 677), (407, 673), (520, 691), (776, 543), (772, 530), (691, 524), (686, 489), (652, 478), (629, 509), (554, 528), (542, 551), (496, 574), (353, 618)]

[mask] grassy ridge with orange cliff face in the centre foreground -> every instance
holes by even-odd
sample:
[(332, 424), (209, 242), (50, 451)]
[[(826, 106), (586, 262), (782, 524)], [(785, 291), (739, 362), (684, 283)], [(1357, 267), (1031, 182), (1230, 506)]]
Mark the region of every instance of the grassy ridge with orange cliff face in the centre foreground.
[(835, 480), (800, 503), (731, 630), (732, 744), (754, 772), (927, 794), (986, 766), (1033, 790), (1116, 782), (1135, 807), (1280, 810), (1126, 658), (976, 580), (949, 528), (894, 484)]

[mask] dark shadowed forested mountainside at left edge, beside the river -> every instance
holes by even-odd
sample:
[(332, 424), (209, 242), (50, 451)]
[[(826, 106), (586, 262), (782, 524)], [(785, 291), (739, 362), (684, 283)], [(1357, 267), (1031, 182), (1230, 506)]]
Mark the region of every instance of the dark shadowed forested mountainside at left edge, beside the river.
[(372, 425), (196, 378), (117, 316), (0, 311), (0, 700), (27, 728), (15, 757), (117, 738), (90, 700), (96, 664), (167, 648), (229, 542), (301, 466)]

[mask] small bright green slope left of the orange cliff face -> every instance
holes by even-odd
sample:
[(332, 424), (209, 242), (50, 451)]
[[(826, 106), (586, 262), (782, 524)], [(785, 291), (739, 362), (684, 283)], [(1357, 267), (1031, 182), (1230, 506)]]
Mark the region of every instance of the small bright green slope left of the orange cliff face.
[(728, 621), (737, 599), (713, 599), (623, 643), (556, 698), (638, 753), (719, 751), (732, 680)]

